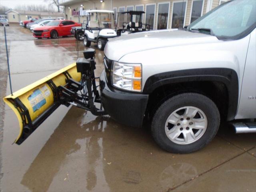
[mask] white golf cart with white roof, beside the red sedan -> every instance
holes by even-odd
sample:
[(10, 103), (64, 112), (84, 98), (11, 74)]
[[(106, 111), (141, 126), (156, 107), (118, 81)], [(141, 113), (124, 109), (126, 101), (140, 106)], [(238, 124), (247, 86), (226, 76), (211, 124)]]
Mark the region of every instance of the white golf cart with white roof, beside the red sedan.
[(89, 47), (91, 42), (98, 45), (98, 49), (104, 50), (108, 38), (116, 37), (116, 23), (114, 11), (88, 10), (86, 28), (84, 30), (84, 46)]

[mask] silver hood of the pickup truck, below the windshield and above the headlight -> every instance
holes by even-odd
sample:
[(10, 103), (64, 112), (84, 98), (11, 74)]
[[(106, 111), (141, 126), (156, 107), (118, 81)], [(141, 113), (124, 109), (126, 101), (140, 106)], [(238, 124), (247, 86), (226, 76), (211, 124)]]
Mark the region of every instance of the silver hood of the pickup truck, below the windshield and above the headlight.
[(110, 60), (118, 61), (122, 56), (149, 49), (188, 44), (217, 42), (215, 36), (185, 30), (156, 30), (138, 32), (113, 38), (106, 44), (104, 53)]

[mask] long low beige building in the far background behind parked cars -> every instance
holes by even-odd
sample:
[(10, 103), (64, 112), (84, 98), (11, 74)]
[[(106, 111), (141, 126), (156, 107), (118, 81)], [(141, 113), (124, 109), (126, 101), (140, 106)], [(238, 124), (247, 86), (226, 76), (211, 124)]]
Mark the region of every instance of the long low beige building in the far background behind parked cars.
[(36, 12), (10, 9), (6, 13), (8, 21), (19, 23), (20, 21), (29, 20), (30, 18), (58, 18), (64, 17), (64, 13), (59, 12)]

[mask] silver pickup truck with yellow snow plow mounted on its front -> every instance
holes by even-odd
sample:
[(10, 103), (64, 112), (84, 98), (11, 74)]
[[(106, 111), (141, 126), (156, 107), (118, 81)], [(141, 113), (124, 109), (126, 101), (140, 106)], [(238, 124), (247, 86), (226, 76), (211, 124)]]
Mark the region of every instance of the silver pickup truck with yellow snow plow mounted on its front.
[[(21, 144), (61, 104), (151, 125), (156, 143), (190, 153), (208, 144), (220, 121), (256, 132), (256, 1), (233, 0), (183, 30), (109, 40), (99, 88), (95, 50), (75, 64), (4, 98), (20, 123)], [(99, 103), (97, 107), (94, 103)]]

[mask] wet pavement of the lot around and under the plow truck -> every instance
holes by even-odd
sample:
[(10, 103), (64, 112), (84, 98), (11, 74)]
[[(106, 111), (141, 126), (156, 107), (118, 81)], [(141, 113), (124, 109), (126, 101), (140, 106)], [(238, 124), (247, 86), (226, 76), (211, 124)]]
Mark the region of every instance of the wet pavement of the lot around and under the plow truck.
[[(74, 37), (38, 40), (18, 25), (7, 34), (13, 91), (77, 59)], [(22, 145), (12, 145), (19, 127), (2, 102), (10, 94), (3, 27), (0, 44), (1, 191), (256, 191), (256, 134), (236, 135), (226, 124), (202, 150), (179, 155), (161, 150), (147, 126), (60, 106)], [(78, 48), (82, 57), (82, 42)], [(103, 56), (97, 50), (96, 76)]]

